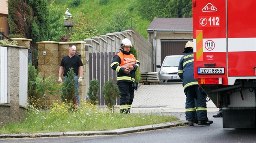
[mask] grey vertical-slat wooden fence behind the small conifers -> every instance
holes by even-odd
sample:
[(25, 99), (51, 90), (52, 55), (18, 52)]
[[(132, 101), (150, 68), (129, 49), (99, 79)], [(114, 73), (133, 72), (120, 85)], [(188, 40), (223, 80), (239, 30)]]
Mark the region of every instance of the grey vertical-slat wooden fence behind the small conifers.
[[(102, 86), (109, 78), (113, 78), (116, 84), (116, 71), (111, 69), (110, 64), (115, 56), (115, 52), (111, 53), (89, 53), (89, 80), (98, 80), (100, 82), (100, 91), (98, 92), (98, 105), (105, 105), (102, 95)], [(116, 100), (116, 105), (119, 105), (119, 99)]]

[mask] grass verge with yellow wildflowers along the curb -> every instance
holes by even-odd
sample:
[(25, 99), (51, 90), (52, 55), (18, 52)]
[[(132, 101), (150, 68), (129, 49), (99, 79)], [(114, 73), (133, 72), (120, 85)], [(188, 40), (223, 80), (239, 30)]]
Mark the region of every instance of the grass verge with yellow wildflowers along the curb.
[(164, 114), (119, 114), (82, 101), (77, 109), (55, 101), (48, 110), (29, 106), (21, 122), (1, 125), (2, 134), (112, 130), (178, 120)]

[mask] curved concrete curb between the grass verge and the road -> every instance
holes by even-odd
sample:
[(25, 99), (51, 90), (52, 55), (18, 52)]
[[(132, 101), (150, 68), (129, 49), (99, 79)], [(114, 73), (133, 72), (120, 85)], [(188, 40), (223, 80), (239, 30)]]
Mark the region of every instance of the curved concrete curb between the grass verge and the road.
[(22, 138), (22, 137), (68, 137), (68, 136), (91, 136), (91, 135), (122, 135), (132, 132), (142, 132), (148, 130), (157, 130), (163, 128), (171, 128), (174, 126), (180, 126), (186, 124), (188, 121), (181, 119), (174, 122), (166, 122), (161, 124), (153, 124), (146, 126), (135, 126), (130, 128), (120, 128), (114, 130), (104, 130), (104, 131), (78, 131), (78, 132), (50, 132), (50, 133), (20, 133), (20, 134), (1, 134), (0, 138)]

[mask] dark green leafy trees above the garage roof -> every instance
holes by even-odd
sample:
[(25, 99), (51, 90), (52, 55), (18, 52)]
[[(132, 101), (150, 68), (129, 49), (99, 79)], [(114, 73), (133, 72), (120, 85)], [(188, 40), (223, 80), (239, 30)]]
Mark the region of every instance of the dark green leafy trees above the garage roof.
[(192, 17), (192, 0), (137, 0), (136, 9), (143, 19), (154, 17)]

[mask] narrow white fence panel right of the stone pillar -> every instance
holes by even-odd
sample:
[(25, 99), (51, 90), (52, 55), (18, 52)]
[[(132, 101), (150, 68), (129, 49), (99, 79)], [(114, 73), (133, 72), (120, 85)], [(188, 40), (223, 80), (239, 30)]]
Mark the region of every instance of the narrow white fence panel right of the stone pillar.
[(28, 98), (28, 58), (20, 50), (20, 105), (25, 106)]

